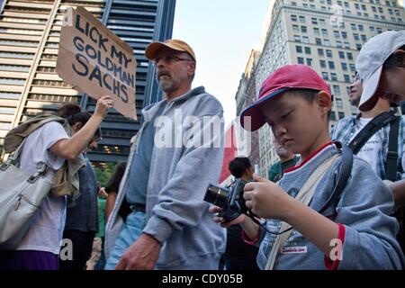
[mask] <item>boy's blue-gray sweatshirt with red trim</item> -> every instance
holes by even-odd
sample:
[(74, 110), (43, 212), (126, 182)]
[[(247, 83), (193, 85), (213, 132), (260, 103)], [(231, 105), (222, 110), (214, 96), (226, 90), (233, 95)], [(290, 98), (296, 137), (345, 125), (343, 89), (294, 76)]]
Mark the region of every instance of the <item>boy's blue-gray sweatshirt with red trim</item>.
[[(284, 173), (279, 185), (291, 196), (300, 192), (317, 166), (338, 153), (335, 145), (321, 149), (301, 166)], [(341, 157), (335, 160), (331, 168), (322, 176), (310, 207), (319, 211), (336, 185)], [(374, 173), (371, 167), (359, 157), (354, 157), (351, 175), (343, 190), (337, 207), (330, 206), (323, 214), (329, 219), (344, 225), (343, 254), (338, 269), (402, 269), (404, 257), (395, 234), (399, 226), (391, 217), (393, 199), (390, 190)], [(280, 220), (269, 219), (266, 229), (272, 233), (280, 232)], [(275, 243), (275, 234), (265, 233), (262, 229), (257, 264), (266, 267), (270, 250)], [(337, 247), (331, 243), (331, 247)], [(275, 269), (314, 269), (329, 268), (325, 255), (298, 230), (285, 242), (275, 259)]]

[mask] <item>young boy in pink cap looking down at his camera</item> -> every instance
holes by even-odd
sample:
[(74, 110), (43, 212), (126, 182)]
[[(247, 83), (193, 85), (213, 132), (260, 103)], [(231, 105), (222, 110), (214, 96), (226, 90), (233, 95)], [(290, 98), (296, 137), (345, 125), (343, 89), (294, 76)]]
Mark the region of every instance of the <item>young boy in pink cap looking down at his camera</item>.
[(245, 186), (247, 207), (267, 219), (267, 231), (246, 215), (229, 223), (214, 218), (224, 227), (240, 223), (245, 241), (260, 247), (261, 269), (401, 269), (404, 265), (395, 240), (398, 223), (389, 216), (392, 195), (364, 160), (354, 157), (337, 206), (318, 212), (337, 183), (341, 163), (340, 151), (329, 137), (331, 105), (329, 86), (311, 67), (288, 65), (265, 80), (257, 102), (241, 114), (246, 130), (257, 130), (267, 122), (278, 143), (301, 155), (298, 166), (285, 171), (280, 185), (255, 175), (257, 182)]

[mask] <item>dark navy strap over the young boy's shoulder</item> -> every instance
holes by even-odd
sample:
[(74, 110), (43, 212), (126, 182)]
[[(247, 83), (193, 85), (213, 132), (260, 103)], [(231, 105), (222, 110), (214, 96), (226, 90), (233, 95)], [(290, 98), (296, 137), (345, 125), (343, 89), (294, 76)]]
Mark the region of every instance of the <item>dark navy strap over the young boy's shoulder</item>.
[(343, 192), (343, 189), (345, 189), (348, 178), (350, 176), (350, 173), (352, 172), (352, 166), (353, 166), (353, 151), (352, 149), (348, 148), (346, 145), (342, 145), (340, 142), (335, 142), (335, 145), (338, 148), (342, 149), (342, 162), (339, 167), (339, 173), (338, 173), (338, 181), (335, 187), (333, 188), (332, 193), (330, 194), (329, 199), (323, 207), (319, 210), (320, 214), (322, 214), (324, 211), (326, 211), (329, 206), (334, 205), (337, 206), (338, 202), (340, 200), (340, 195)]

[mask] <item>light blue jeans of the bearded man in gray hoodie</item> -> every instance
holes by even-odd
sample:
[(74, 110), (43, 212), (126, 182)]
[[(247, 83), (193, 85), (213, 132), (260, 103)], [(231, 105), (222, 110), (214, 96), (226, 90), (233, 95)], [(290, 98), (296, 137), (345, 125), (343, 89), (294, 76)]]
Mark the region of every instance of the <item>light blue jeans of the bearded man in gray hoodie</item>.
[(142, 234), (142, 230), (146, 226), (146, 214), (144, 212), (131, 212), (124, 227), (121, 230), (120, 236), (115, 241), (115, 246), (112, 249), (111, 256), (107, 260), (105, 270), (114, 270), (120, 261), (122, 254), (132, 245)]

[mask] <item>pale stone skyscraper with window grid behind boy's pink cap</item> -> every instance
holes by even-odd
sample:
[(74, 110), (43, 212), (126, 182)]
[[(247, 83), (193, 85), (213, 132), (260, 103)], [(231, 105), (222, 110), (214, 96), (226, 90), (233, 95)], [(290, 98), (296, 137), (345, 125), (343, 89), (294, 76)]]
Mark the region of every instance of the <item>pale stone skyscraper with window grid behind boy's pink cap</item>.
[[(330, 86), (330, 126), (356, 108), (348, 102), (358, 51), (377, 33), (405, 29), (405, 11), (393, 0), (271, 0), (255, 71), (256, 91), (277, 67), (306, 64)], [(267, 126), (259, 130), (260, 174), (278, 157)]]

